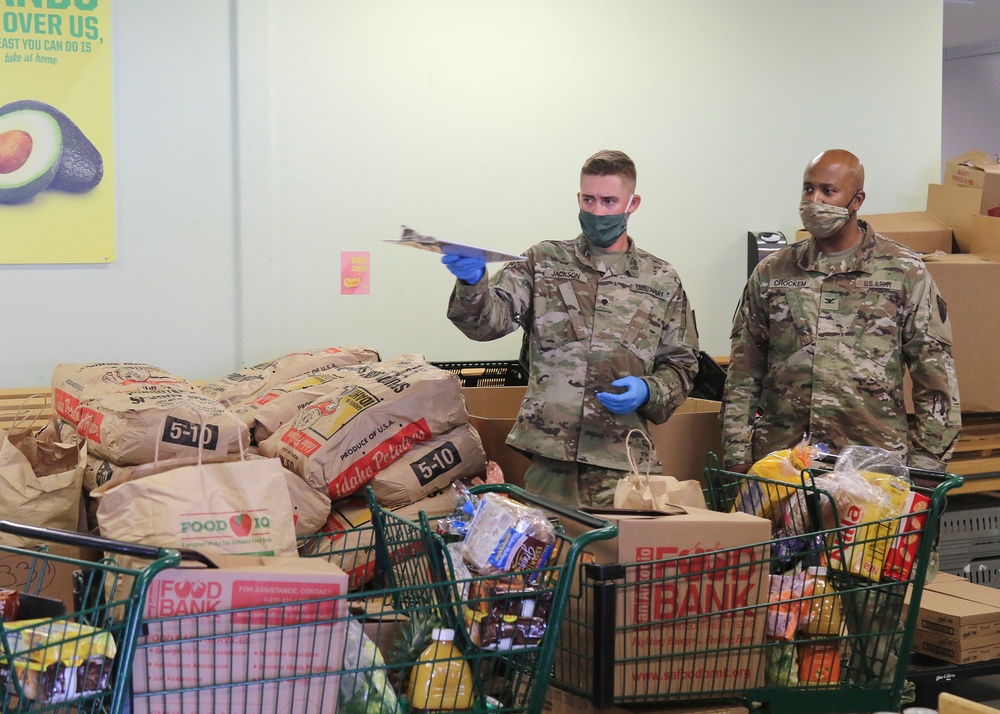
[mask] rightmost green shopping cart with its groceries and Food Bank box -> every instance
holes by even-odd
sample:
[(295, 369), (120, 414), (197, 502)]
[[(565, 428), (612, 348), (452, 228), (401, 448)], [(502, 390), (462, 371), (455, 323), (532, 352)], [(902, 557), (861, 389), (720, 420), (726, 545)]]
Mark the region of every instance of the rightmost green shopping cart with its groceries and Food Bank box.
[(803, 443), (747, 474), (709, 460), (714, 513), (612, 517), (618, 544), (585, 559), (553, 685), (598, 707), (898, 711), (945, 495), (961, 477), (871, 447), (834, 457)]

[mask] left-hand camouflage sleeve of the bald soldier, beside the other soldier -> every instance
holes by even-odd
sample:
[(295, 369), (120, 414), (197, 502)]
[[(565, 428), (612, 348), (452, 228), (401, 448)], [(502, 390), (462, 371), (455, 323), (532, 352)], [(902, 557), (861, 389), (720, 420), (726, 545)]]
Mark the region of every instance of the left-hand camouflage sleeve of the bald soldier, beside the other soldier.
[(725, 466), (753, 463), (751, 434), (767, 370), (767, 313), (756, 290), (757, 271), (743, 289), (730, 333), (729, 368), (722, 395)]

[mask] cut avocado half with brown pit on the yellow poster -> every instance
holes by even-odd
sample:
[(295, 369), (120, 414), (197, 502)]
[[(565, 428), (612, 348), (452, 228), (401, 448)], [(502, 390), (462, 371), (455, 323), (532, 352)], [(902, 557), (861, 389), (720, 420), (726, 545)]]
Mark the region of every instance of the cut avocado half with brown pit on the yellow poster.
[(23, 203), (50, 186), (62, 142), (59, 122), (47, 112), (0, 115), (0, 203)]

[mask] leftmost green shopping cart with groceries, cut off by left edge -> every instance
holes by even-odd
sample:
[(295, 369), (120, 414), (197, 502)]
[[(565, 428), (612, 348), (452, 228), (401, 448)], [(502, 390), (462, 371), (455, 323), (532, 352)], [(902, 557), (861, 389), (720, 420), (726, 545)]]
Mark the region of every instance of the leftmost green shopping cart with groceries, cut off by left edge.
[[(160, 571), (178, 564), (180, 554), (10, 521), (0, 521), (0, 531), (148, 562), (142, 568), (126, 568), (110, 559), (91, 562), (55, 555), (45, 546), (38, 550), (0, 546), (7, 562), (24, 564), (13, 574), (22, 582), (15, 588), (17, 594), (6, 593), (4, 598), (18, 613), (0, 623), (0, 711), (122, 711), (149, 583)], [(40, 594), (57, 568), (74, 569), (73, 603)], [(4, 615), (4, 620), (10, 619), (9, 612)]]

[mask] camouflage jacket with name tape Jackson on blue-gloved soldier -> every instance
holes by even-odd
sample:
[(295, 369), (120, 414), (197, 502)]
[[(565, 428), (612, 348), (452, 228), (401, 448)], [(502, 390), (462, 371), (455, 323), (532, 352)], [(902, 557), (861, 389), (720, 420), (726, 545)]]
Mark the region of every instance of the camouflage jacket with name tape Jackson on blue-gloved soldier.
[[(629, 470), (630, 429), (660, 424), (687, 398), (698, 337), (677, 272), (629, 239), (622, 270), (602, 271), (583, 234), (545, 241), (489, 281), (456, 281), (448, 318), (468, 337), (493, 340), (524, 327), (528, 387), (507, 443), (529, 454)], [(625, 375), (645, 379), (649, 400), (613, 414), (596, 397)], [(637, 464), (655, 454), (633, 437)], [(647, 461), (649, 459), (649, 461)]]

